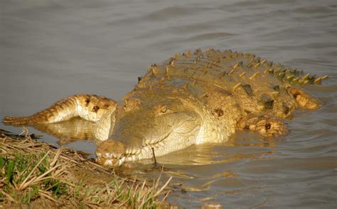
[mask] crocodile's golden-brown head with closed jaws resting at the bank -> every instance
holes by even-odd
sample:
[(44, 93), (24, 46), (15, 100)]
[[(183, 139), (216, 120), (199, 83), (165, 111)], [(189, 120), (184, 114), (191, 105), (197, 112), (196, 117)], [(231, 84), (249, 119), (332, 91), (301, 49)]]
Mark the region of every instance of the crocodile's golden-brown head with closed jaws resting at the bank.
[(124, 99), (114, 114), (112, 135), (97, 147), (98, 163), (119, 166), (193, 145), (202, 121), (198, 112), (181, 96), (155, 91), (133, 92)]

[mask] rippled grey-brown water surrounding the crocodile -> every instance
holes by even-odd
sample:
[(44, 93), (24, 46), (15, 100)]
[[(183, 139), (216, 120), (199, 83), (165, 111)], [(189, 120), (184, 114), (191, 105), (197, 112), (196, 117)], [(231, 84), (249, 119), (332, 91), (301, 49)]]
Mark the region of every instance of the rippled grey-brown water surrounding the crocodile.
[[(337, 207), (336, 1), (1, 1), (0, 117), (29, 115), (73, 94), (121, 98), (149, 64), (216, 47), (253, 52), (312, 74), (319, 111), (297, 111), (287, 137), (241, 133), (162, 157), (186, 208)], [(21, 128), (0, 128), (21, 132)], [(36, 130), (33, 132), (38, 133)], [(55, 143), (57, 138), (44, 139)], [(69, 144), (92, 152), (92, 142)], [(159, 171), (141, 171), (152, 178)], [(144, 170), (144, 169), (143, 169)], [(136, 172), (134, 171), (134, 172)]]

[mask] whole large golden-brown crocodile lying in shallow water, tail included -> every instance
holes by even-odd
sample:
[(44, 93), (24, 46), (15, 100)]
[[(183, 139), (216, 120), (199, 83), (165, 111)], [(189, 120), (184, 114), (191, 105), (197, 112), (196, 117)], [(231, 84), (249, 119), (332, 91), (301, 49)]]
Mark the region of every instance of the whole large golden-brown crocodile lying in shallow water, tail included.
[[(80, 117), (94, 124), (97, 162), (124, 162), (169, 154), (191, 145), (226, 142), (236, 130), (263, 137), (287, 135), (285, 118), (322, 103), (301, 86), (316, 77), (250, 53), (200, 49), (151, 64), (119, 102), (80, 94), (6, 125), (58, 123)], [(155, 155), (154, 155), (155, 154)]]

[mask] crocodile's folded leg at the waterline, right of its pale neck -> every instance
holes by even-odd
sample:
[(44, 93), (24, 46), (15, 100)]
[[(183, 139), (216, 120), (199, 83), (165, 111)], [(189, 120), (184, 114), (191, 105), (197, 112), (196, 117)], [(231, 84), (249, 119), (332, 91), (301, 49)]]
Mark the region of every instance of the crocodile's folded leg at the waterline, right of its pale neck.
[(288, 129), (283, 120), (272, 114), (250, 113), (237, 123), (239, 130), (260, 132), (263, 136), (287, 135)]

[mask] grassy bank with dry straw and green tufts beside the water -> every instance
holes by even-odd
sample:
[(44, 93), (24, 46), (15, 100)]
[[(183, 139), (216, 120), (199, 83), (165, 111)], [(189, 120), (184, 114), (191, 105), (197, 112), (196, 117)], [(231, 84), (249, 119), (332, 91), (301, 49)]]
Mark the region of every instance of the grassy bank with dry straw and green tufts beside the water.
[(169, 207), (171, 178), (137, 181), (29, 135), (0, 134), (0, 208)]

